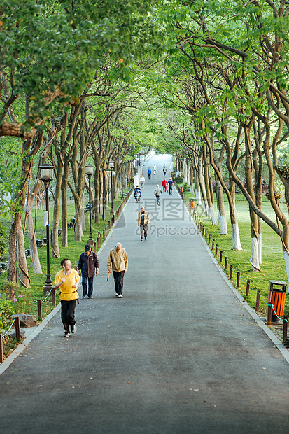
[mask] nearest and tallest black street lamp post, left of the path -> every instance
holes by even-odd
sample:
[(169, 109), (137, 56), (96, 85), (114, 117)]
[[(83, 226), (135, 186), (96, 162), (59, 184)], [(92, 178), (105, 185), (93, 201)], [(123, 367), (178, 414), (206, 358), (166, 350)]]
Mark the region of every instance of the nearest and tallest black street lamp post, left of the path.
[(43, 293), (49, 293), (52, 289), (51, 275), (50, 275), (50, 238), (49, 238), (49, 202), (48, 202), (48, 188), (50, 181), (53, 179), (53, 169), (55, 166), (48, 165), (44, 163), (43, 166), (39, 166), (40, 169), (40, 179), (43, 181), (45, 186), (45, 200), (46, 200), (46, 211), (44, 214), (44, 225), (46, 226), (46, 248), (47, 248), (47, 274), (45, 286), (43, 286)]

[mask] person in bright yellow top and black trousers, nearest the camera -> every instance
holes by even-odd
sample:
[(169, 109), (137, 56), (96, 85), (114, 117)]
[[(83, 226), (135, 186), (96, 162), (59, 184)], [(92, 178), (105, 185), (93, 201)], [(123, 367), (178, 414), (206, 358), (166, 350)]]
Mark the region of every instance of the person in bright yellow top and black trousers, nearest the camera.
[(69, 259), (62, 259), (60, 264), (62, 270), (56, 274), (54, 284), (55, 289), (60, 288), (61, 319), (64, 325), (64, 337), (69, 337), (69, 325), (71, 326), (71, 333), (76, 333), (74, 312), (76, 310), (76, 302), (78, 302), (77, 288), (80, 283), (80, 277), (75, 269), (71, 269)]

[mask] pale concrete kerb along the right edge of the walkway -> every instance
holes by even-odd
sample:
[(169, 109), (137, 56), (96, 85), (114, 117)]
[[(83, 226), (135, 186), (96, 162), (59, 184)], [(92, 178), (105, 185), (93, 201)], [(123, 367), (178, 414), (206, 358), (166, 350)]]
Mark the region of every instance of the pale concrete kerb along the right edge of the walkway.
[[(183, 204), (183, 206), (185, 207), (185, 204)], [(220, 267), (220, 264), (218, 263), (218, 261), (216, 260), (215, 256), (211, 252), (208, 244), (206, 243), (206, 240), (202, 236), (201, 232), (199, 232), (199, 230), (197, 228), (197, 225), (195, 224), (195, 221), (192, 218), (192, 216), (190, 214), (190, 211), (188, 211), (187, 207), (185, 207), (185, 211), (188, 212), (188, 214), (190, 216), (190, 220), (192, 221), (192, 225), (194, 225), (195, 228), (197, 229), (197, 233), (198, 233), (199, 237), (202, 239), (202, 241), (204, 243), (204, 246), (206, 248), (206, 251), (211, 256), (211, 259), (213, 260), (214, 264), (216, 265), (217, 269), (219, 270), (220, 275), (223, 277), (224, 281), (227, 283), (227, 286), (229, 286), (229, 288), (236, 295), (236, 297), (241, 302), (241, 304), (245, 307), (245, 309), (248, 311), (248, 313), (252, 316), (252, 318), (254, 319), (254, 321), (256, 321), (256, 323), (258, 323), (258, 325), (260, 326), (260, 328), (262, 328), (262, 330), (266, 333), (266, 335), (273, 342), (273, 344), (276, 346), (276, 348), (279, 349), (279, 351), (281, 352), (283, 358), (285, 358), (286, 362), (289, 364), (289, 351), (285, 348), (285, 346), (283, 346), (283, 344), (274, 335), (274, 333), (267, 327), (267, 325), (262, 321), (262, 319), (256, 314), (256, 312), (252, 309), (252, 307), (248, 305), (248, 303), (246, 302), (246, 300), (244, 300), (244, 298), (241, 296), (241, 294), (239, 293), (239, 291), (232, 285), (232, 283), (230, 282), (230, 280), (227, 279), (227, 276), (226, 276), (225, 272), (223, 272), (223, 269)]]

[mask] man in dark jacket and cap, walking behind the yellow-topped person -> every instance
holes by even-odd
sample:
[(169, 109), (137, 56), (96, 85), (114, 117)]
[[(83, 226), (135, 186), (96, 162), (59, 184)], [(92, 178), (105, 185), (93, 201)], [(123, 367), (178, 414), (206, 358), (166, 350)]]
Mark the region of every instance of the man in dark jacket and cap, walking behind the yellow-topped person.
[[(85, 245), (85, 252), (81, 253), (78, 261), (78, 274), (82, 276), (83, 298), (87, 295), (87, 279), (88, 279), (88, 298), (92, 298), (93, 292), (93, 277), (94, 274), (99, 274), (99, 260), (97, 255), (92, 251), (90, 244)], [(96, 269), (96, 272), (95, 270)]]

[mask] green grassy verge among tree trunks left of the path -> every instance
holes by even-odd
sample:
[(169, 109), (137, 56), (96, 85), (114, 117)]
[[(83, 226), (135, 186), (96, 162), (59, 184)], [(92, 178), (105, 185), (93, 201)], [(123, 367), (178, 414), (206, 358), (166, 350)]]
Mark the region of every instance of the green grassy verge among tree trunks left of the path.
[[(124, 190), (125, 193), (129, 191), (129, 189)], [(120, 207), (121, 200), (115, 200), (113, 202), (113, 210), (117, 211), (118, 207)], [(50, 221), (52, 218), (52, 211), (53, 211), (53, 205), (51, 204), (50, 207)], [(68, 203), (68, 221), (70, 221), (71, 218), (73, 218), (75, 209), (73, 201), (69, 201)], [(35, 211), (35, 210), (34, 210)], [(37, 210), (36, 214), (36, 239), (43, 239), (46, 237), (46, 230), (43, 227), (43, 211)], [(93, 223), (92, 222), (92, 238), (94, 240), (97, 240), (97, 237), (99, 237), (99, 233), (103, 232), (103, 230), (106, 228), (106, 225), (108, 224), (108, 221), (111, 220), (111, 214), (110, 209), (106, 210), (106, 219), (102, 220), (100, 223)], [(59, 221), (61, 221), (61, 216), (59, 216)], [(9, 229), (10, 222), (8, 219), (3, 219), (1, 223), (6, 226), (7, 229)], [(22, 222), (23, 223), (23, 222)], [(85, 224), (86, 224), (86, 230), (83, 231), (83, 237), (81, 242), (74, 241), (74, 231), (73, 229), (68, 230), (68, 247), (62, 247), (61, 244), (61, 235), (59, 236), (59, 253), (60, 258), (50, 258), (50, 273), (51, 273), (51, 279), (54, 281), (55, 274), (61, 269), (60, 266), (60, 260), (62, 258), (69, 258), (71, 260), (71, 264), (73, 267), (76, 267), (78, 264), (78, 258), (81, 253), (84, 251), (84, 246), (87, 244), (87, 239), (89, 237), (90, 232), (90, 226), (89, 226), (89, 212), (85, 214)], [(29, 248), (29, 243), (27, 236), (25, 237), (25, 245), (27, 248)], [(101, 244), (99, 243), (99, 248), (101, 247)], [(97, 251), (97, 248), (96, 248)], [(6, 328), (1, 329), (1, 318), (6, 315), (5, 309), (3, 308), (3, 304), (1, 305), (1, 300), (10, 300), (10, 308), (9, 308), (9, 314), (32, 314), (34, 316), (38, 316), (38, 310), (37, 310), (37, 300), (44, 300), (43, 295), (43, 286), (45, 285), (46, 280), (46, 246), (43, 246), (41, 248), (38, 248), (38, 255), (39, 260), (41, 262), (42, 272), (43, 274), (34, 274), (31, 270), (29, 271), (29, 277), (31, 279), (31, 288), (24, 288), (17, 285), (12, 285), (11, 283), (8, 283), (6, 281), (6, 274), (7, 272), (3, 272), (0, 276), (0, 333), (4, 332)], [(7, 259), (7, 258), (6, 258)], [(5, 258), (4, 258), (5, 260)], [(30, 267), (31, 265), (31, 258), (27, 258), (27, 265)], [(57, 303), (59, 302), (59, 291), (57, 291)], [(52, 311), (52, 300), (51, 296), (48, 297), (47, 300), (45, 300), (42, 303), (42, 313), (43, 318), (50, 314), (50, 311)], [(7, 315), (6, 315), (7, 316)], [(12, 321), (10, 321), (12, 323)], [(17, 346), (17, 344), (20, 342), (19, 339), (3, 339), (3, 353), (4, 358), (6, 358), (11, 351)]]

